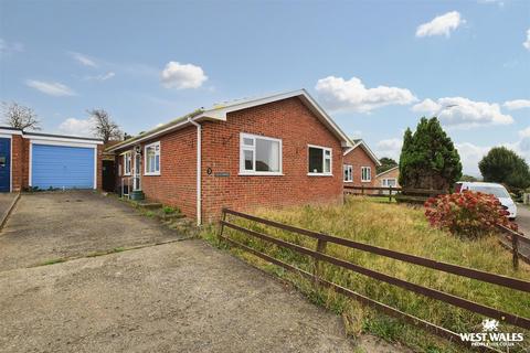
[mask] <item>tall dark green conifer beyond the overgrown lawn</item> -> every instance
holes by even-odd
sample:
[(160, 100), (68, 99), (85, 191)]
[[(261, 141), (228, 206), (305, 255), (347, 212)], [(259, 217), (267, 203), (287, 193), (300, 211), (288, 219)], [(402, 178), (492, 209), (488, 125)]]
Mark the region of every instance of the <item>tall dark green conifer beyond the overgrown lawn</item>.
[(423, 117), (414, 133), (406, 129), (400, 157), (403, 188), (449, 190), (460, 176), (460, 157), (437, 118)]

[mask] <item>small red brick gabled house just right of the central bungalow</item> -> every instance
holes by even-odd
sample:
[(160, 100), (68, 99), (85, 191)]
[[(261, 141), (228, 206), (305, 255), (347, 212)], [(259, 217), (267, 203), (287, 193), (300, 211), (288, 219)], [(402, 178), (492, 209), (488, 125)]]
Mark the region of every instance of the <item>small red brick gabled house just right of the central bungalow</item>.
[(381, 165), (375, 153), (362, 139), (343, 152), (343, 182), (352, 186), (377, 186), (375, 170)]

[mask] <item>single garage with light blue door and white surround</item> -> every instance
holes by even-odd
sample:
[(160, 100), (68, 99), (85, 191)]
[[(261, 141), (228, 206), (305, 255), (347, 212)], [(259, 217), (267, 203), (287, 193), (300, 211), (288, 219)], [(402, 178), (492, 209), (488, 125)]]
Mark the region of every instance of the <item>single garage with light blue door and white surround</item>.
[(30, 186), (96, 189), (97, 143), (82, 138), (31, 136)]

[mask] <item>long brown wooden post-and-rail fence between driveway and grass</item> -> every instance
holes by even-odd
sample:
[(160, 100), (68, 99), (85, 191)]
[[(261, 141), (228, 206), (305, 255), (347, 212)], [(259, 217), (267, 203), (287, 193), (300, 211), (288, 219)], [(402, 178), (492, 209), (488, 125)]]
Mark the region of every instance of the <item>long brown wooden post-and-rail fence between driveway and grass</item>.
[[(256, 232), (256, 231), (253, 231), (253, 229), (245, 228), (245, 227), (243, 227), (241, 225), (237, 225), (233, 222), (226, 221), (226, 215), (230, 215), (231, 217), (235, 217), (235, 218), (237, 218), (237, 217), (239, 218), (244, 218), (244, 220), (247, 220), (247, 221), (256, 222), (256, 223), (264, 224), (264, 225), (267, 225), (267, 226), (272, 226), (272, 227), (283, 229), (283, 231), (286, 231), (286, 232), (296, 233), (296, 234), (299, 234), (299, 235), (305, 235), (305, 236), (311, 237), (311, 238), (317, 240), (316, 249), (310, 249), (310, 248), (307, 248), (307, 247), (304, 247), (304, 246), (300, 246), (300, 245), (297, 245), (297, 244), (293, 244), (293, 243), (289, 243), (289, 242), (286, 242), (286, 240), (279, 239), (279, 238), (275, 238), (275, 237), (273, 237), (271, 235), (267, 235), (267, 234), (264, 234), (264, 233), (259, 233), (259, 232)], [(237, 232), (244, 233), (244, 234), (246, 234), (248, 236), (252, 236), (252, 237), (255, 237), (255, 238), (259, 238), (262, 240), (265, 240), (265, 242), (268, 242), (271, 244), (280, 246), (283, 248), (290, 249), (295, 253), (303, 254), (303, 255), (311, 257), (314, 259), (314, 270), (312, 270), (312, 272), (305, 271), (305, 270), (303, 270), (303, 269), (300, 269), (296, 266), (293, 266), (290, 264), (286, 264), (286, 263), (282, 261), (282, 260), (278, 260), (278, 259), (276, 259), (276, 258), (274, 258), (274, 257), (272, 257), (267, 254), (264, 254), (264, 253), (261, 253), (256, 249), (253, 249), (252, 247), (250, 247), (245, 244), (242, 244), (237, 240), (231, 239), (229, 236), (224, 235), (224, 228), (225, 227), (235, 229)], [(457, 276), (462, 276), (462, 277), (467, 277), (467, 278), (480, 280), (480, 281), (484, 281), (484, 282), (489, 282), (489, 284), (511, 288), (511, 289), (515, 289), (515, 290), (520, 290), (520, 291), (523, 291), (523, 292), (530, 292), (530, 281), (526, 281), (526, 280), (521, 280), (521, 279), (517, 279), (517, 278), (511, 278), (511, 277), (507, 277), (507, 276), (501, 276), (501, 275), (496, 275), (496, 274), (490, 274), (490, 272), (486, 272), (486, 271), (481, 271), (481, 270), (477, 270), (477, 269), (473, 269), (473, 268), (468, 268), (468, 267), (463, 267), (463, 266), (458, 266), (458, 265), (437, 261), (437, 260), (433, 260), (433, 259), (428, 259), (428, 258), (424, 258), (424, 257), (420, 257), (420, 256), (415, 256), (415, 255), (411, 255), (411, 254), (394, 252), (394, 250), (391, 250), (391, 249), (377, 247), (377, 246), (373, 246), (373, 245), (359, 243), (359, 242), (354, 242), (354, 240), (351, 240), (351, 239), (346, 239), (346, 238), (336, 237), (336, 236), (324, 234), (324, 233), (312, 232), (312, 231), (309, 231), (309, 229), (304, 229), (304, 228), (286, 225), (286, 224), (283, 224), (283, 223), (261, 218), (261, 217), (257, 217), (257, 216), (254, 216), (254, 215), (241, 213), (241, 212), (229, 210), (229, 208), (223, 208), (223, 211), (222, 211), (222, 221), (220, 222), (219, 237), (220, 237), (221, 240), (224, 240), (224, 242), (226, 242), (226, 243), (229, 243), (233, 246), (236, 246), (239, 248), (242, 248), (242, 249), (244, 249), (244, 250), (246, 250), (246, 252), (248, 252), (248, 253), (251, 253), (251, 254), (253, 254), (253, 255), (255, 255), (255, 256), (257, 256), (257, 257), (259, 257), (259, 258), (262, 258), (262, 259), (264, 259), (268, 263), (280, 266), (280, 267), (283, 267), (283, 268), (285, 268), (289, 271), (297, 272), (297, 274), (301, 275), (303, 277), (314, 281), (317, 286), (324, 286), (326, 288), (333, 289), (335, 291), (337, 291), (341, 295), (344, 295), (347, 297), (357, 299), (362, 304), (377, 308), (377, 309), (383, 311), (384, 313), (386, 313), (389, 315), (402, 319), (407, 323), (411, 323), (413, 325), (423, 328), (423, 329), (425, 329), (425, 330), (427, 330), (427, 331), (430, 331), (434, 334), (437, 334), (442, 338), (445, 338), (445, 339), (447, 339), (452, 342), (466, 345), (468, 347), (469, 347), (469, 344), (466, 343), (466, 342), (463, 342), (460, 340), (459, 334), (457, 334), (455, 332), (452, 332), (452, 331), (449, 331), (447, 329), (444, 329), (442, 327), (438, 327), (434, 323), (427, 322), (427, 321), (422, 320), (420, 318), (416, 318), (416, 317), (413, 317), (413, 315), (407, 314), (405, 312), (402, 312), (402, 311), (400, 311), (395, 308), (392, 308), (390, 306), (386, 306), (384, 303), (375, 301), (371, 298), (368, 298), (365, 296), (357, 293), (357, 292), (352, 291), (351, 289), (341, 287), (341, 286), (339, 286), (335, 282), (326, 280), (325, 278), (322, 278), (321, 264), (322, 263), (328, 263), (328, 264), (331, 264), (331, 265), (335, 265), (335, 266), (338, 266), (338, 267), (341, 267), (341, 268), (352, 270), (354, 272), (368, 276), (370, 278), (373, 278), (373, 279), (377, 279), (377, 280), (380, 280), (380, 281), (383, 281), (383, 282), (386, 282), (386, 284), (406, 289), (409, 291), (412, 291), (412, 292), (415, 292), (415, 293), (418, 293), (418, 295), (422, 295), (422, 296), (425, 296), (425, 297), (428, 297), (428, 298), (433, 298), (433, 299), (449, 303), (452, 306), (455, 306), (455, 307), (458, 307), (458, 308), (462, 308), (462, 309), (469, 310), (471, 312), (475, 312), (475, 313), (478, 313), (478, 314), (481, 314), (481, 315), (485, 315), (485, 317), (497, 319), (497, 320), (499, 320), (501, 322), (505, 322), (505, 323), (509, 323), (509, 324), (512, 324), (512, 325), (516, 325), (516, 327), (519, 327), (519, 328), (522, 328), (522, 329), (530, 330), (530, 319), (529, 318), (523, 318), (523, 317), (520, 317), (520, 315), (517, 315), (517, 314), (512, 314), (512, 313), (509, 313), (509, 312), (497, 310), (495, 308), (487, 307), (487, 306), (470, 301), (470, 300), (465, 299), (465, 298), (460, 298), (460, 297), (449, 295), (449, 293), (446, 293), (446, 292), (443, 292), (443, 291), (439, 291), (439, 290), (436, 290), (436, 289), (431, 289), (431, 288), (427, 288), (427, 287), (424, 287), (424, 286), (412, 284), (412, 282), (409, 282), (406, 280), (395, 278), (395, 277), (392, 277), (392, 276), (389, 276), (389, 275), (385, 275), (385, 274), (382, 274), (382, 272), (379, 272), (379, 271), (375, 271), (375, 270), (371, 270), (371, 269), (361, 267), (359, 265), (356, 265), (353, 263), (350, 263), (350, 261), (347, 261), (347, 260), (343, 260), (343, 259), (340, 259), (340, 258), (332, 257), (332, 256), (326, 254), (326, 246), (327, 246), (328, 243), (332, 243), (332, 244), (337, 244), (337, 245), (344, 246), (344, 247), (348, 247), (348, 248), (363, 250), (363, 252), (367, 252), (367, 253), (370, 253), (370, 254), (375, 254), (375, 255), (389, 257), (389, 258), (405, 261), (405, 263), (409, 263), (409, 264), (418, 265), (418, 266), (423, 266), (423, 267), (426, 267), (426, 268), (431, 268), (431, 269), (435, 269), (435, 270), (439, 270), (439, 271), (444, 271), (444, 272), (448, 272), (448, 274), (453, 274), (453, 275), (457, 275)], [(484, 347), (480, 347), (480, 350), (484, 350)]]

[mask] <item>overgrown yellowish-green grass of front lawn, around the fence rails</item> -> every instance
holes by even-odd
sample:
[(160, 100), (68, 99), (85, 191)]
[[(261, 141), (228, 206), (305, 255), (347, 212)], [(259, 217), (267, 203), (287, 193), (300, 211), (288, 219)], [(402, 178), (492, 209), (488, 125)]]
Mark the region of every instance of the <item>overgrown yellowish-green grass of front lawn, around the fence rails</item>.
[[(448, 233), (431, 228), (425, 221), (423, 210), (417, 207), (412, 208), (400, 204), (378, 203), (373, 202), (373, 200), (368, 200), (368, 197), (350, 197), (342, 206), (304, 206), (279, 211), (258, 210), (253, 212), (253, 214), (402, 253), (526, 280), (530, 279), (529, 266), (521, 264), (518, 271), (513, 270), (510, 253), (498, 244), (495, 236), (474, 242), (456, 238)], [(265, 225), (257, 225), (243, 220), (233, 218), (231, 221), (290, 243), (309, 248), (316, 247), (316, 240), (306, 236), (283, 232)], [(209, 240), (215, 243), (215, 237), (211, 233), (204, 232), (203, 234)], [(309, 271), (312, 269), (312, 261), (306, 256), (256, 238), (251, 238), (226, 227), (225, 235), (275, 258), (294, 264), (301, 269)], [(315, 290), (309, 281), (299, 276), (287, 274), (282, 268), (267, 264), (250, 254), (237, 249), (232, 249), (232, 252), (269, 272), (293, 281), (310, 300), (342, 314), (349, 333), (353, 335), (360, 332), (370, 332), (389, 342), (401, 342), (413, 350), (422, 352), (463, 351), (462, 346), (453, 345), (442, 339), (426, 334), (421, 329), (404, 324), (372, 309), (363, 308), (358, 302), (337, 295), (331, 290)], [(522, 317), (530, 317), (530, 296), (521, 291), (332, 244), (328, 244), (327, 254), (486, 306)], [(454, 332), (481, 331), (480, 323), (484, 318), (466, 310), (328, 264), (324, 266), (324, 276), (328, 280)], [(500, 330), (502, 332), (524, 332), (522, 329), (502, 323)], [(528, 342), (530, 332), (527, 331), (524, 333), (526, 342)], [(529, 344), (524, 343), (524, 347), (528, 349)], [(523, 351), (524, 347), (518, 346), (512, 349), (511, 352)]]

